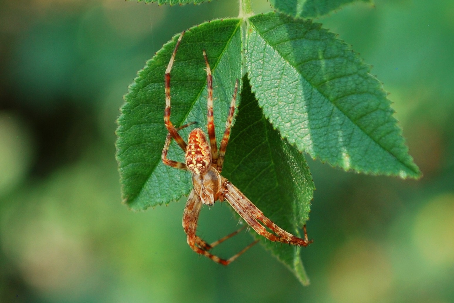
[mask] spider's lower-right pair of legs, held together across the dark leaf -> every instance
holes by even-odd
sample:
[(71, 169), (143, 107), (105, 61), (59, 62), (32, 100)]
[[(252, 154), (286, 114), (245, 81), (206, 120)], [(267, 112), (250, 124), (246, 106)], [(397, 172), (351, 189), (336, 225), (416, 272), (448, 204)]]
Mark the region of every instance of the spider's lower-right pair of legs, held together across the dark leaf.
[[(305, 229), (305, 238), (298, 238), (291, 233), (286, 232), (276, 224), (274, 224), (270, 219), (268, 219), (260, 209), (257, 208), (252, 202), (246, 198), (242, 192), (237, 189), (232, 183), (227, 179), (222, 179), (224, 188), (227, 189), (224, 193), (224, 198), (227, 202), (232, 205), (233, 209), (249, 224), (258, 234), (263, 237), (276, 242), (295, 244), (298, 246), (307, 246), (312, 243), (312, 240), (307, 240), (307, 234)], [(269, 233), (266, 228), (260, 224), (260, 221), (263, 222), (268, 228), (270, 228), (274, 233)]]

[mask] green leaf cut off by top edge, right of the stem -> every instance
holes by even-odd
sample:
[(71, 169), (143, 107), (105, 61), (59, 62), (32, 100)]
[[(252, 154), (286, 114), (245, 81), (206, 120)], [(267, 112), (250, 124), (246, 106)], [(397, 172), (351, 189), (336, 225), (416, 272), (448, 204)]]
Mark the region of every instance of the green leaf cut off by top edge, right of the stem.
[(317, 18), (357, 1), (371, 2), (371, 0), (270, 0), (270, 4), (276, 10), (293, 17)]

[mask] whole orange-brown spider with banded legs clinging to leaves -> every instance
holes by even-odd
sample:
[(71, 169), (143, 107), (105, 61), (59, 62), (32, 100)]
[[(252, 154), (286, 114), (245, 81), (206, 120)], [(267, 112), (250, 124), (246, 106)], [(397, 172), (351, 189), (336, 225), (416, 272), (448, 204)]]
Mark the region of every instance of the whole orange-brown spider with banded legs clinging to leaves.
[[(232, 183), (220, 174), (222, 171), (222, 165), (224, 162), (224, 156), (226, 153), (227, 143), (230, 136), (230, 127), (232, 124), (233, 114), (235, 112), (235, 102), (237, 98), (238, 90), (238, 79), (235, 84), (235, 89), (232, 96), (232, 102), (230, 104), (230, 110), (227, 116), (227, 122), (225, 126), (224, 136), (221, 141), (219, 149), (217, 148), (216, 135), (214, 132), (214, 119), (213, 119), (213, 90), (212, 90), (212, 75), (210, 65), (208, 64), (207, 54), (203, 50), (203, 57), (205, 59), (206, 71), (207, 71), (207, 135), (202, 129), (192, 129), (189, 134), (188, 144), (178, 134), (180, 129), (188, 127), (189, 125), (195, 124), (191, 122), (175, 128), (170, 122), (170, 71), (172, 70), (175, 55), (180, 45), (183, 33), (178, 38), (175, 49), (173, 50), (172, 57), (167, 66), (165, 72), (165, 94), (166, 94), (166, 107), (164, 110), (164, 122), (168, 130), (167, 138), (164, 144), (162, 152), (163, 163), (178, 169), (189, 170), (192, 173), (192, 185), (193, 189), (188, 196), (188, 201), (184, 208), (183, 213), (183, 229), (186, 233), (187, 241), (189, 246), (196, 253), (202, 254), (214, 262), (228, 265), (242, 253), (251, 248), (258, 240), (247, 245), (239, 253), (235, 254), (229, 259), (222, 259), (213, 255), (209, 250), (215, 247), (217, 244), (231, 238), (242, 230), (239, 230), (227, 235), (224, 238), (217, 240), (214, 243), (208, 244), (202, 238), (196, 235), (197, 220), (202, 208), (202, 205), (213, 205), (215, 201), (220, 202), (227, 200), (227, 202), (235, 209), (235, 211), (242, 217), (246, 223), (252, 227), (258, 234), (263, 237), (276, 242), (288, 243), (297, 246), (307, 246), (312, 240), (308, 240), (306, 233), (306, 225), (303, 227), (304, 238), (298, 238), (291, 233), (286, 232), (270, 219), (268, 219), (260, 209), (257, 208), (252, 202), (246, 198), (242, 192), (237, 189)], [(185, 152), (185, 163), (173, 161), (167, 158), (167, 152), (170, 142), (174, 139), (178, 145)], [(264, 224), (265, 226), (263, 226)], [(246, 225), (244, 226), (246, 227)], [(243, 227), (243, 228), (244, 228)], [(266, 228), (269, 228), (273, 233), (268, 232)]]

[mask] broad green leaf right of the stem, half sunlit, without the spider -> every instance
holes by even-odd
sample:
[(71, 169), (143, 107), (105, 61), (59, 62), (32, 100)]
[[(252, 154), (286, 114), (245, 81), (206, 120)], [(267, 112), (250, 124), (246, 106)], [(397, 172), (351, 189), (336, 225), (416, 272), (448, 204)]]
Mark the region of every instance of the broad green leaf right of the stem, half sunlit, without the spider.
[(418, 178), (381, 83), (320, 24), (249, 19), (246, 64), (265, 116), (291, 144), (345, 170)]

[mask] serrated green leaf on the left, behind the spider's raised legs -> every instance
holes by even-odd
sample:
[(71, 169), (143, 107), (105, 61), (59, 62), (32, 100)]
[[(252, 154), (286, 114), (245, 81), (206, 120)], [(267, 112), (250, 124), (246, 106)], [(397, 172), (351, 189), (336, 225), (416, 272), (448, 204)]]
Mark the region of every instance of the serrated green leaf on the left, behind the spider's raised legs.
[[(224, 125), (236, 79), (241, 77), (240, 20), (215, 20), (188, 30), (178, 48), (171, 72), (172, 116), (179, 126), (197, 121), (206, 125), (206, 50), (215, 87), (215, 124)], [(147, 62), (130, 85), (118, 118), (117, 160), (123, 201), (140, 210), (169, 203), (188, 194), (188, 172), (173, 169), (161, 161), (167, 129), (164, 126), (164, 73), (179, 35)], [(190, 129), (181, 134), (187, 137)], [(217, 127), (218, 138), (222, 127)], [(183, 161), (183, 151), (172, 144), (170, 159)]]

